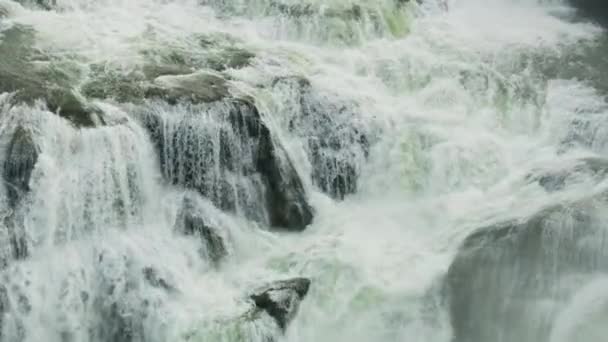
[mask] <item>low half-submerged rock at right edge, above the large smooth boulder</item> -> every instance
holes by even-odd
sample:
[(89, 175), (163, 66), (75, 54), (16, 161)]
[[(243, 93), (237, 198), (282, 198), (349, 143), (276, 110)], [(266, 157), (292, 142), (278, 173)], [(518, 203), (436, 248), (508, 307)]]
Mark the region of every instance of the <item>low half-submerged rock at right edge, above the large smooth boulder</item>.
[(576, 161), (573, 167), (530, 174), (526, 179), (531, 182), (538, 182), (547, 191), (558, 191), (562, 190), (568, 183), (575, 182), (581, 175), (599, 182), (607, 174), (608, 160), (592, 157)]

